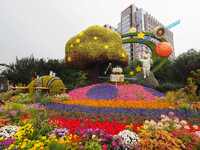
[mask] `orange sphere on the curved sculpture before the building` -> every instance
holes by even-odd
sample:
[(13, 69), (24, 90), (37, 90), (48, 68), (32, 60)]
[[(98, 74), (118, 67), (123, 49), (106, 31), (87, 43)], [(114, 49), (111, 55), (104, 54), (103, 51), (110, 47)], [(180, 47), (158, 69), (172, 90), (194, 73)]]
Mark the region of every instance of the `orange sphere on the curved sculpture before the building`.
[(160, 57), (169, 57), (173, 52), (173, 48), (169, 42), (158, 43), (155, 50)]

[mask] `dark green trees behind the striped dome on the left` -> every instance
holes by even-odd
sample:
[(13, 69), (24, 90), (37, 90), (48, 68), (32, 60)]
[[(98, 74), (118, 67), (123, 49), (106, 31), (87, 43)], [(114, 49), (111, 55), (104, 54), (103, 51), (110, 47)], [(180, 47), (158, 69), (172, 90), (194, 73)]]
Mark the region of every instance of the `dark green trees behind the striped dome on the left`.
[[(50, 70), (55, 72), (69, 89), (78, 87), (79, 83), (84, 86), (89, 82), (86, 73), (69, 68), (63, 60), (36, 59), (33, 56), (22, 59), (17, 58), (16, 62), (10, 64), (10, 68), (5, 69), (1, 75), (6, 77), (11, 84), (22, 83), (27, 85), (32, 81), (34, 73), (42, 76), (49, 74)], [(0, 95), (0, 97), (2, 96)], [(9, 96), (5, 99), (9, 99)]]

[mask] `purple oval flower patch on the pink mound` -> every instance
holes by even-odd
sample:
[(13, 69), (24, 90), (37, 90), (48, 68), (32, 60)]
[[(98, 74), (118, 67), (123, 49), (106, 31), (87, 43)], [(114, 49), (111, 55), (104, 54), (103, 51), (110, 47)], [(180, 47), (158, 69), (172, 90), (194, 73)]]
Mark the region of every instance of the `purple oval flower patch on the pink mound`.
[(114, 99), (117, 97), (118, 89), (111, 84), (100, 84), (92, 87), (87, 92), (90, 99)]

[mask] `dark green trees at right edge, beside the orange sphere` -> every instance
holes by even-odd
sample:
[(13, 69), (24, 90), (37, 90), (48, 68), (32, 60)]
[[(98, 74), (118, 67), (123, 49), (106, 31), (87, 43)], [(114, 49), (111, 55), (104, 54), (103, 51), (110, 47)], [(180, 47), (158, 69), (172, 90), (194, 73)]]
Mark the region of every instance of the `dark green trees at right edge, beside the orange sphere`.
[(160, 83), (178, 82), (186, 85), (190, 72), (200, 68), (200, 52), (193, 49), (178, 56), (174, 61), (169, 61), (155, 73)]

